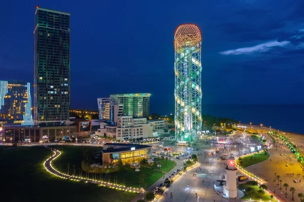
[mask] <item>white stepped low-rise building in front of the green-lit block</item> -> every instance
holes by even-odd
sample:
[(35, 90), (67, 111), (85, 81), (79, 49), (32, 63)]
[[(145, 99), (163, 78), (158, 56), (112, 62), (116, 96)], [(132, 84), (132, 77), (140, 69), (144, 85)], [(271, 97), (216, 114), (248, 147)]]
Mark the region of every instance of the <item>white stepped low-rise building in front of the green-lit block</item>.
[(119, 116), (117, 125), (100, 123), (96, 135), (115, 138), (117, 140), (128, 140), (133, 138), (154, 137), (157, 133), (146, 118), (132, 118), (132, 116)]

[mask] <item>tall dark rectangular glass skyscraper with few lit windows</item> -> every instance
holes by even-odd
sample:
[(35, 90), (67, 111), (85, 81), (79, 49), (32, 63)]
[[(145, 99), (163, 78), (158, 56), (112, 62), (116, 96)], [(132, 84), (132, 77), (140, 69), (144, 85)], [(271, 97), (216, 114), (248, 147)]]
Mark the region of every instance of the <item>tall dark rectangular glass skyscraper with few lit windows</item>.
[(36, 7), (34, 121), (52, 126), (69, 120), (70, 14)]

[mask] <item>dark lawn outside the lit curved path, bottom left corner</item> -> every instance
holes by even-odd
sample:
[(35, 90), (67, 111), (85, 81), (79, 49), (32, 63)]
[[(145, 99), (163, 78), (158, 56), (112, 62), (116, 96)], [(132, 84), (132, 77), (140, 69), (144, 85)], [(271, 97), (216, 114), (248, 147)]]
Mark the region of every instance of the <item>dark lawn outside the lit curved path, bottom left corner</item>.
[(135, 193), (54, 177), (43, 168), (51, 155), (42, 146), (0, 149), (6, 201), (131, 201)]

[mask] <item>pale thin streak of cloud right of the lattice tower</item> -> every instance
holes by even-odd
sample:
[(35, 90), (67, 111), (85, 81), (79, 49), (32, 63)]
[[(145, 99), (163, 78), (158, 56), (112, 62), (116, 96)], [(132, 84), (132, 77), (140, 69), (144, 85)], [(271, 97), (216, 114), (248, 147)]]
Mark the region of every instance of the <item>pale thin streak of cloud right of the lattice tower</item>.
[(221, 55), (241, 55), (241, 54), (251, 54), (251, 53), (262, 53), (262, 52), (267, 52), (269, 51), (269, 49), (271, 49), (272, 47), (276, 47), (276, 46), (285, 46), (288, 43), (290, 43), (290, 41), (269, 41), (269, 42), (265, 42), (265, 43), (261, 43), (255, 46), (251, 46), (251, 47), (242, 47), (242, 48), (238, 48), (238, 49), (232, 49), (229, 51), (224, 51), (224, 52), (220, 52)]

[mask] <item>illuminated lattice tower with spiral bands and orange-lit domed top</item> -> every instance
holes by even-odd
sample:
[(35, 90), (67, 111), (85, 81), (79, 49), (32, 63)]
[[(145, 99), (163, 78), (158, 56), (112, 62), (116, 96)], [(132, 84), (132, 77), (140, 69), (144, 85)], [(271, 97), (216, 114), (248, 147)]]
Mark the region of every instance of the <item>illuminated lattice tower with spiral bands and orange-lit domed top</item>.
[(174, 33), (175, 49), (175, 138), (198, 141), (201, 115), (202, 32), (195, 24), (179, 25)]

